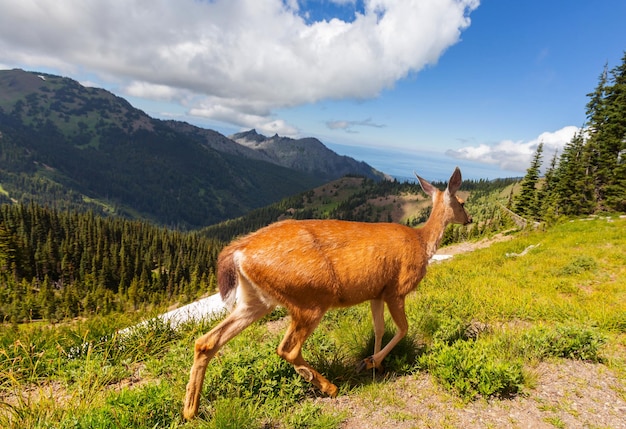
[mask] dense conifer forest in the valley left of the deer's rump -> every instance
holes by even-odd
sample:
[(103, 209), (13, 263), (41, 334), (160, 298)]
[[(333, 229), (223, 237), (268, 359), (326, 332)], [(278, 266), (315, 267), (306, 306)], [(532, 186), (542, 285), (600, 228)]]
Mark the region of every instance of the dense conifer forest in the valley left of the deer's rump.
[(0, 206), (0, 320), (191, 302), (215, 290), (221, 241), (146, 221)]

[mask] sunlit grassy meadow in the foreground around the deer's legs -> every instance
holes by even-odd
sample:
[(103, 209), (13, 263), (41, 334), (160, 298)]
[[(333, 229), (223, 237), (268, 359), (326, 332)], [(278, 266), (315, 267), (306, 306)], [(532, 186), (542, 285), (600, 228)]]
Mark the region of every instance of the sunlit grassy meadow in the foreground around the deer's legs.
[[(180, 412), (191, 349), (217, 321), (179, 331), (154, 323), (125, 336), (116, 330), (135, 320), (5, 326), (0, 426), (459, 427), (466, 426), (464, 410), (490, 398), (512, 427), (528, 427), (531, 418), (547, 427), (617, 427), (626, 407), (624, 230), (625, 218), (568, 221), (431, 266), (407, 301), (409, 335), (382, 375), (354, 371), (371, 353), (369, 307), (329, 313), (304, 355), (339, 386), (336, 400), (318, 399), (277, 357), (285, 320), (275, 312), (209, 364), (201, 415), (189, 424)], [(597, 380), (564, 383), (564, 393), (549, 400), (535, 394), (544, 382), (537, 368), (574, 362), (611, 381), (602, 384), (608, 407), (581, 402)], [(423, 377), (436, 383), (428, 398), (415, 387)], [(398, 383), (402, 396), (394, 393)], [(489, 413), (480, 418), (480, 425), (501, 427)]]

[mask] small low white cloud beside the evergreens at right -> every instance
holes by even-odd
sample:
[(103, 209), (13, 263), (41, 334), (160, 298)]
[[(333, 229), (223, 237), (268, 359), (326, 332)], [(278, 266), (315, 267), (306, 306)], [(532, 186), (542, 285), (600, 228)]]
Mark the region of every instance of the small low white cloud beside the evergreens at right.
[(549, 161), (555, 152), (561, 152), (579, 130), (578, 127), (567, 126), (554, 132), (541, 133), (537, 138), (527, 142), (503, 140), (495, 145), (480, 144), (448, 150), (446, 155), (456, 159), (498, 165), (503, 170), (523, 172), (530, 166), (539, 143), (543, 143), (545, 169), (548, 164), (546, 160)]

